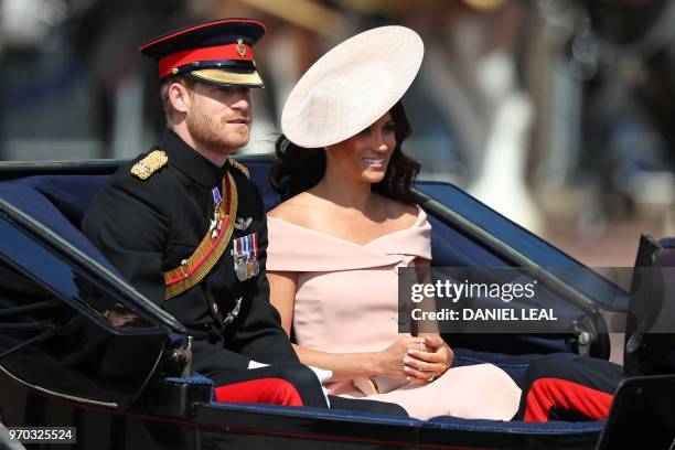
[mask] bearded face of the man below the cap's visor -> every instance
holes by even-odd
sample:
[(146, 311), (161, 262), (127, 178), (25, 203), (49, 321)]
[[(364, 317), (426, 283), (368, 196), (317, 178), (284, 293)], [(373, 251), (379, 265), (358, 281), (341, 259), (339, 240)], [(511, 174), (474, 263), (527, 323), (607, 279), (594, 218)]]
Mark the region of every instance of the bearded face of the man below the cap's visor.
[(195, 83), (190, 90), (185, 125), (199, 146), (229, 154), (246, 146), (250, 137), (250, 89)]

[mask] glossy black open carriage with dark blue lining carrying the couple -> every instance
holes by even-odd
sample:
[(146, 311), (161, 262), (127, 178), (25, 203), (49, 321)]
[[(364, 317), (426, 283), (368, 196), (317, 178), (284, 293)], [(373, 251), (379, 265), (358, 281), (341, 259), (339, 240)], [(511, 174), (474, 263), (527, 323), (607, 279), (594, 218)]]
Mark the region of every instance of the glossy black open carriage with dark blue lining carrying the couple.
[[(267, 207), (276, 205), (279, 199), (267, 181), (271, 159), (240, 161)], [(429, 197), (422, 206), (433, 228), (432, 266), (525, 268), (546, 286), (547, 301), (577, 318), (572, 329), (555, 334), (447, 334), (456, 364), (491, 362), (522, 386), (527, 365), (542, 354), (608, 358), (607, 313), (639, 311), (643, 319), (628, 322), (626, 379), (607, 422), (422, 421), (214, 403), (213, 383), (190, 373), (183, 325), (122, 280), (78, 229), (94, 194), (120, 164), (0, 165), (0, 422), (6, 427), (76, 427), (82, 449), (614, 449), (667, 448), (675, 439), (673, 341), (644, 326), (644, 318), (653, 322), (668, 311), (664, 306), (675, 304), (673, 280), (652, 277), (649, 290), (624, 292), (439, 182), (418, 184)], [(636, 265), (674, 266), (673, 247), (673, 239), (643, 237)], [(559, 268), (582, 274), (583, 282), (561, 277), (554, 270)], [(644, 277), (640, 282), (645, 286)], [(83, 356), (92, 352), (98, 355), (94, 365)], [(120, 355), (127, 364), (110, 363)]]

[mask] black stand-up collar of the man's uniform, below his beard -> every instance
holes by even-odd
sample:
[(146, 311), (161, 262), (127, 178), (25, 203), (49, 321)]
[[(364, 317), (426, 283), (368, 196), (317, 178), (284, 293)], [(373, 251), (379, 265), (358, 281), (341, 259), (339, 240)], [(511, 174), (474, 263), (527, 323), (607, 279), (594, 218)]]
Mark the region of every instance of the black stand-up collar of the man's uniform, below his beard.
[(227, 172), (227, 165), (229, 165), (226, 162), (222, 168), (218, 168), (171, 130), (164, 132), (160, 149), (167, 152), (170, 164), (195, 183), (207, 189), (221, 185), (223, 176)]

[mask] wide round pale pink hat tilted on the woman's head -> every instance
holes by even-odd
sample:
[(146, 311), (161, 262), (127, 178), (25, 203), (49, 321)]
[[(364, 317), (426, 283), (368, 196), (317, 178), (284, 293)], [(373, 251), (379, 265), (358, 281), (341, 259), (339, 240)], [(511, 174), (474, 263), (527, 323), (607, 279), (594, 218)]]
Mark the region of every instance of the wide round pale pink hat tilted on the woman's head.
[(397, 25), (342, 42), (317, 61), (291, 92), (281, 114), (283, 135), (304, 148), (355, 136), (408, 90), (424, 53), (421, 38)]

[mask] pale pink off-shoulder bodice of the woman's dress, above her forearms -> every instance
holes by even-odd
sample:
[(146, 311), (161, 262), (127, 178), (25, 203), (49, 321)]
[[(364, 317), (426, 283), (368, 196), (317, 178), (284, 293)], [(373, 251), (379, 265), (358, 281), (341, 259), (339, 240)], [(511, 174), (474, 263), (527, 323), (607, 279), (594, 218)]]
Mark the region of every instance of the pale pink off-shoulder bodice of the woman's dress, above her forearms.
[(431, 225), (415, 223), (360, 245), (269, 217), (267, 270), (298, 272), (293, 330), (299, 344), (371, 352), (398, 336), (397, 268), (430, 259)]

